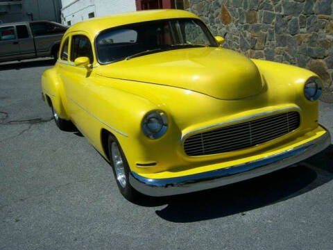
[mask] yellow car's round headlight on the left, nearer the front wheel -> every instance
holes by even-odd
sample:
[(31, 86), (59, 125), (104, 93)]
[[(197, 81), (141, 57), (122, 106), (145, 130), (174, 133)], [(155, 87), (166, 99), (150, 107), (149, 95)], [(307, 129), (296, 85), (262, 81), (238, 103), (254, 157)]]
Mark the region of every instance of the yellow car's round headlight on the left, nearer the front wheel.
[(168, 119), (167, 115), (161, 110), (148, 112), (142, 120), (142, 131), (151, 139), (160, 138), (167, 132)]

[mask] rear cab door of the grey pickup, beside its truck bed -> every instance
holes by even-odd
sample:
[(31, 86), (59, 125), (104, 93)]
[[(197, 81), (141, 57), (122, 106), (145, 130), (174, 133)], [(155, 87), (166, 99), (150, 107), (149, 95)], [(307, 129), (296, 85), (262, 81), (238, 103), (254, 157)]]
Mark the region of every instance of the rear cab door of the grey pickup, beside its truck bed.
[(17, 38), (19, 39), (19, 51), (21, 58), (34, 58), (35, 57), (35, 44), (33, 43), (33, 36), (30, 29), (26, 24), (19, 24), (16, 26)]

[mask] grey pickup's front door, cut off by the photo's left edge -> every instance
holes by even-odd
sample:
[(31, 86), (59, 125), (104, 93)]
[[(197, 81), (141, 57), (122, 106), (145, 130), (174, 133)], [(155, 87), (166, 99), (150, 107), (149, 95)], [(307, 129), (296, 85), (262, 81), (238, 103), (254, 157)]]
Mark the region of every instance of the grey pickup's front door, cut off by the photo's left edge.
[(15, 26), (0, 27), (0, 62), (20, 58)]

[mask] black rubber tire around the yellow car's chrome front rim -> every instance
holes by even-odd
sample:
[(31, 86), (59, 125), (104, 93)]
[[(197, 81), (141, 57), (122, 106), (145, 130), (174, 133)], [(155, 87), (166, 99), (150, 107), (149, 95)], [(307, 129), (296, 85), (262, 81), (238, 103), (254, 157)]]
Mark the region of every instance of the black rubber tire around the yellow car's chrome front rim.
[[(114, 153), (112, 153), (112, 144), (117, 144), (117, 147), (119, 149), (119, 153), (120, 153), (121, 160), (123, 163), (123, 172), (125, 174), (125, 180), (126, 180), (125, 185), (123, 185), (123, 183), (121, 183), (121, 181), (119, 181), (119, 178), (117, 176), (116, 167), (114, 165)], [(119, 191), (121, 192), (123, 197), (125, 197), (125, 199), (136, 203), (142, 197), (142, 194), (137, 192), (137, 190), (135, 190), (132, 187), (132, 185), (130, 185), (130, 181), (129, 181), (130, 167), (126, 160), (126, 156), (123, 153), (123, 149), (121, 149), (121, 146), (120, 146), (117, 138), (115, 138), (114, 135), (112, 135), (112, 134), (108, 135), (108, 156), (109, 156), (110, 165), (112, 166), (114, 178), (116, 179)]]

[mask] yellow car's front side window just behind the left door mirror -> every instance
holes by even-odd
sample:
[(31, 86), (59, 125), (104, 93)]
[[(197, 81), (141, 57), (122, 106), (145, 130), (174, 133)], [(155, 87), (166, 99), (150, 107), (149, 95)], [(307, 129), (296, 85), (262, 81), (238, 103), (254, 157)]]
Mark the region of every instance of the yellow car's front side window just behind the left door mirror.
[(74, 35), (73, 38), (71, 38), (71, 61), (74, 62), (76, 58), (81, 56), (87, 56), (90, 63), (94, 61), (92, 44), (84, 35)]

